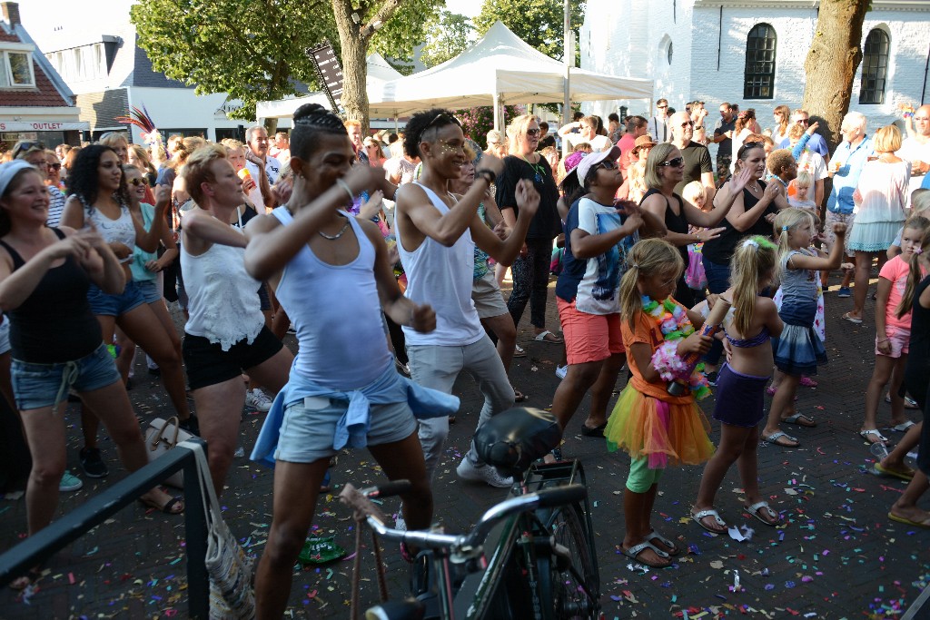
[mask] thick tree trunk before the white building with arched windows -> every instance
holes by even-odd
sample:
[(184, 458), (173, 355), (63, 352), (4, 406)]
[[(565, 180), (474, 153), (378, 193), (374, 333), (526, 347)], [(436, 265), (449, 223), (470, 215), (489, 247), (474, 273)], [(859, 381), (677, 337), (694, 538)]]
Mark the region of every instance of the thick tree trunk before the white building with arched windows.
[(820, 0), (817, 30), (804, 60), (807, 82), (802, 107), (820, 123), (830, 152), (842, 141), (840, 125), (862, 61), (862, 22), (870, 0)]

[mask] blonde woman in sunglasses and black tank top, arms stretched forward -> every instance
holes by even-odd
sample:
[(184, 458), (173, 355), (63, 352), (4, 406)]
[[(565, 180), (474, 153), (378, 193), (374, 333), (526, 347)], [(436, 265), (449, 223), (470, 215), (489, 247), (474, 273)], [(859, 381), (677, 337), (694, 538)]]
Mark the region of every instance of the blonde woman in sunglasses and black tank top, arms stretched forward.
[[(665, 222), (669, 230), (665, 240), (678, 248), (684, 264), (688, 264), (688, 244), (702, 244), (724, 231), (714, 228), (726, 216), (730, 204), (714, 208), (710, 213), (701, 211), (694, 204), (674, 192), (675, 186), (684, 177), (684, 157), (671, 142), (663, 142), (649, 152), (645, 163), (645, 184), (649, 188), (640, 206)], [(697, 234), (688, 232), (688, 224), (708, 229)], [(675, 299), (690, 308), (695, 305), (694, 293), (684, 284), (684, 274), (675, 288)]]

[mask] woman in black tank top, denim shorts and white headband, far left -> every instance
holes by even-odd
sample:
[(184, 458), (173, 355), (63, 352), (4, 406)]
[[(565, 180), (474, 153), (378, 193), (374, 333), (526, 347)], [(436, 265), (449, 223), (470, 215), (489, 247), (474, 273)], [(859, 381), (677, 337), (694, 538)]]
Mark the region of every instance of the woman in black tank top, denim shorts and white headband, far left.
[[(66, 461), (60, 404), (69, 387), (98, 412), (127, 469), (148, 463), (139, 422), (86, 300), (90, 283), (122, 290), (123, 268), (96, 232), (46, 228), (47, 211), (48, 193), (31, 165), (0, 165), (0, 310), (10, 316), (13, 392), (33, 455), (29, 534), (46, 527), (58, 506)], [(92, 373), (98, 385), (90, 387)], [(107, 376), (112, 382), (100, 386)], [(169, 512), (183, 509), (157, 488), (142, 500)], [(28, 584), (24, 577), (13, 585)]]

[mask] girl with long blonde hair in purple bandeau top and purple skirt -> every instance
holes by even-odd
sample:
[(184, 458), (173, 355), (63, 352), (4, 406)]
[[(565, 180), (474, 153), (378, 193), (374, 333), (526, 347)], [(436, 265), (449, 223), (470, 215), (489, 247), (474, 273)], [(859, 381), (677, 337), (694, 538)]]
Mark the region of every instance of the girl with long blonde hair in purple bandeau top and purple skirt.
[(772, 372), (771, 338), (781, 335), (784, 323), (775, 302), (759, 293), (777, 280), (778, 252), (762, 236), (737, 245), (730, 261), (732, 285), (720, 296), (732, 310), (724, 321), (724, 337), (732, 351), (717, 378), (714, 419), (720, 420), (720, 446), (700, 481), (691, 518), (708, 532), (725, 534), (726, 522), (713, 508), (713, 498), (734, 462), (739, 468), (747, 505), (766, 525), (780, 523), (778, 513), (759, 494), (757, 480), (759, 421), (764, 417), (764, 392)]

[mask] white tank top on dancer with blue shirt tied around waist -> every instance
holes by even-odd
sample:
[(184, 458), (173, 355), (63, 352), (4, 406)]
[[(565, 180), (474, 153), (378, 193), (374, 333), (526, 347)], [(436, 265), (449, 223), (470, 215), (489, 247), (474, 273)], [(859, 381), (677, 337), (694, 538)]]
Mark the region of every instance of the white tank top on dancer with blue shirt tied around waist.
[[(283, 206), (272, 215), (282, 226), (294, 221)], [(297, 330), (291, 372), (327, 389), (364, 388), (393, 363), (375, 283), (375, 247), (355, 218), (349, 221), (358, 240), (351, 263), (330, 265), (305, 244), (274, 292)]]

